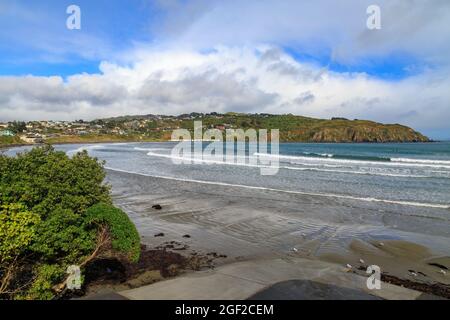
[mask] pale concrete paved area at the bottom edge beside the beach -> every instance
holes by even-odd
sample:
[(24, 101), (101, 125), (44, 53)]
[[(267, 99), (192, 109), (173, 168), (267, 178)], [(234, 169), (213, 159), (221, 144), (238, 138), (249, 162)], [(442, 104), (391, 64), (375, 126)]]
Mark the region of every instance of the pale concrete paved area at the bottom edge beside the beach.
[[(290, 281), (294, 280), (294, 281)], [(244, 300), (277, 299), (406, 299), (418, 291), (382, 283), (369, 290), (367, 278), (343, 267), (307, 259), (271, 259), (237, 262), (215, 270), (196, 272), (149, 286), (120, 292), (132, 300)]]

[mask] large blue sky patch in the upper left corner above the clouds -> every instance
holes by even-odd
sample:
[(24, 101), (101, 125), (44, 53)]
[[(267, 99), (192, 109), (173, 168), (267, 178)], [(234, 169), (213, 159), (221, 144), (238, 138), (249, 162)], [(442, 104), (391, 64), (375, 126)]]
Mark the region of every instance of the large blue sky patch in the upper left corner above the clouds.
[[(66, 8), (71, 4), (82, 9), (82, 30), (65, 26)], [(150, 21), (157, 15), (151, 5), (139, 0), (6, 1), (3, 6), (2, 75), (98, 72), (101, 60), (114, 51), (135, 41), (151, 41)], [(39, 35), (38, 39), (30, 39), (33, 35)]]

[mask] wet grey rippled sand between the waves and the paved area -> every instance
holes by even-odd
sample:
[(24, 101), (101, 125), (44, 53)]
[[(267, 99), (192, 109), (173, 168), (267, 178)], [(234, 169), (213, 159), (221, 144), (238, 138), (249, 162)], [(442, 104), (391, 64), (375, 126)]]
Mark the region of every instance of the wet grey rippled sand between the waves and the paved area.
[(149, 247), (176, 241), (186, 254), (223, 255), (216, 265), (307, 258), (364, 274), (358, 269), (375, 264), (402, 279), (450, 284), (448, 210), (425, 217), (396, 205), (107, 173), (116, 205)]

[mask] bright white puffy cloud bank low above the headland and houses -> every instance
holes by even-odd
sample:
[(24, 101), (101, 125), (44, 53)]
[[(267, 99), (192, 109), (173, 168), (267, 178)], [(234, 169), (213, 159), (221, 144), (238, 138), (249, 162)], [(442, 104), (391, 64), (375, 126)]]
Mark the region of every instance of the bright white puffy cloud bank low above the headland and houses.
[(104, 62), (101, 70), (66, 81), (1, 77), (1, 120), (242, 111), (368, 118), (427, 130), (449, 126), (444, 70), (382, 81), (299, 63), (269, 46), (141, 52), (132, 66)]

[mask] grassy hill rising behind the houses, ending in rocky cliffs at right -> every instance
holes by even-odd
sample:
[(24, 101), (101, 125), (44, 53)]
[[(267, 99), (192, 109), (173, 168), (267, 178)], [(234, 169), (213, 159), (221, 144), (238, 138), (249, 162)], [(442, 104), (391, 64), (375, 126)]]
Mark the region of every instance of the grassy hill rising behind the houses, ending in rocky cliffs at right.
[(226, 128), (279, 129), (280, 140), (284, 142), (427, 142), (421, 133), (400, 125), (381, 124), (368, 120), (314, 119), (295, 115), (270, 114), (200, 114), (180, 116), (122, 116), (97, 120), (103, 124), (127, 126), (133, 121), (145, 121), (147, 135), (158, 134), (176, 128), (192, 129), (194, 121), (202, 121), (206, 128), (225, 126)]

